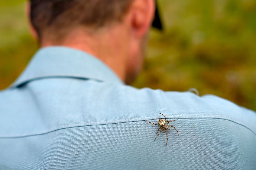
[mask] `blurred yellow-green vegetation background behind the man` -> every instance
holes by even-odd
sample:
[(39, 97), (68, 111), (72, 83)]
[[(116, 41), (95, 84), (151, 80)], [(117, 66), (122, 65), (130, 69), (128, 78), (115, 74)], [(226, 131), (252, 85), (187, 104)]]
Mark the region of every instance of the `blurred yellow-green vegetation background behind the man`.
[[(256, 1), (159, 0), (165, 31), (152, 29), (135, 87), (215, 94), (256, 110)], [(0, 0), (0, 89), (25, 68), (38, 44), (24, 0)]]

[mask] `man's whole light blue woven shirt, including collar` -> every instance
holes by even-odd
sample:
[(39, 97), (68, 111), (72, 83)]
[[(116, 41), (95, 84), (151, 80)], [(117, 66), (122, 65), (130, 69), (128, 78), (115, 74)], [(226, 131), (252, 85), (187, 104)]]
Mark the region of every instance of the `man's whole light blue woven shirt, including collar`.
[[(179, 132), (161, 132), (163, 113)], [(256, 113), (137, 89), (85, 52), (40, 49), (0, 91), (0, 169), (256, 169)]]

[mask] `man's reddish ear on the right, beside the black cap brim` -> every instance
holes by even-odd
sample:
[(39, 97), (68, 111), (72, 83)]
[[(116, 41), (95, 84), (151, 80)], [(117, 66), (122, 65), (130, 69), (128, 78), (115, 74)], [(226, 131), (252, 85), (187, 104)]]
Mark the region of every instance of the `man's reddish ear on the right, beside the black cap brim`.
[(129, 10), (131, 13), (130, 25), (137, 37), (143, 37), (154, 19), (154, 0), (134, 0)]

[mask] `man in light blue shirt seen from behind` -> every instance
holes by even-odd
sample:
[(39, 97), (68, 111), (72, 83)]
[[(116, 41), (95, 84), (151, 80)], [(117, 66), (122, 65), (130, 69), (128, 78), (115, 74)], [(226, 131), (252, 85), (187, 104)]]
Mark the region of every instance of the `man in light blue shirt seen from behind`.
[(31, 0), (41, 49), (0, 93), (0, 169), (256, 169), (253, 111), (125, 85), (154, 11), (153, 0)]

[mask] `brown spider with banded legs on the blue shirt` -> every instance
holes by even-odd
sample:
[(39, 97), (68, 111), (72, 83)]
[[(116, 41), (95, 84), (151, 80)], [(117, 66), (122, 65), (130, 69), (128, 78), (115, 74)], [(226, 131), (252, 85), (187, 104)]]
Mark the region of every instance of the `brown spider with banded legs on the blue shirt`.
[[(159, 114), (161, 114), (161, 115), (164, 116), (164, 114), (162, 114), (162, 113), (159, 113)], [(169, 125), (169, 123), (170, 123), (170, 122), (173, 122), (173, 121), (176, 121), (176, 120), (178, 120), (178, 119), (169, 120), (169, 121), (168, 121), (168, 120), (166, 119), (166, 117), (164, 116), (164, 120), (163, 120), (163, 119), (158, 119), (158, 124), (159, 124), (159, 125), (157, 125), (157, 124), (155, 124), (155, 123), (151, 123), (151, 122), (147, 122), (147, 123), (151, 123), (151, 124), (153, 124), (153, 125), (159, 126), (159, 128), (157, 129), (157, 133), (158, 133), (159, 129), (160, 129), (160, 131), (159, 131), (159, 133), (157, 134), (157, 137), (159, 136), (159, 134), (161, 133), (162, 130), (165, 131), (166, 139), (167, 139), (165, 146), (167, 146), (167, 143), (168, 143), (167, 129), (170, 130), (170, 127), (173, 127), (173, 128), (177, 131), (177, 129), (176, 129), (174, 126)], [(178, 131), (177, 131), (177, 133), (178, 133), (178, 136), (179, 136), (179, 132), (178, 132)], [(154, 139), (154, 141), (157, 139), (157, 137)]]

